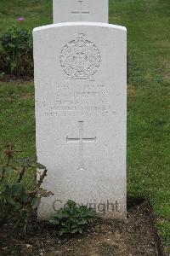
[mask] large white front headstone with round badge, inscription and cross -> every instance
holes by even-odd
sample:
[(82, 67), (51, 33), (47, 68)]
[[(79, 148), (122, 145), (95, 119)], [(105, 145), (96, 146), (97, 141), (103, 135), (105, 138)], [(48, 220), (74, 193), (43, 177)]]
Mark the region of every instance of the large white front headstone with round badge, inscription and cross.
[(127, 32), (104, 23), (34, 29), (39, 218), (68, 200), (126, 217)]

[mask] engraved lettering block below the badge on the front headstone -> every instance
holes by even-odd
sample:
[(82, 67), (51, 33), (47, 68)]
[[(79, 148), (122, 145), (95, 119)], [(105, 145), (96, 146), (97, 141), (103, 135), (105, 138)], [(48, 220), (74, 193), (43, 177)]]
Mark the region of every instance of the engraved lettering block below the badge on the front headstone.
[[(76, 83), (76, 82), (75, 82)], [(96, 82), (72, 86), (70, 81), (56, 83), (54, 99), (37, 102), (37, 108), (45, 108), (48, 117), (96, 117), (115, 115), (114, 104), (109, 101), (109, 91), (105, 84)]]

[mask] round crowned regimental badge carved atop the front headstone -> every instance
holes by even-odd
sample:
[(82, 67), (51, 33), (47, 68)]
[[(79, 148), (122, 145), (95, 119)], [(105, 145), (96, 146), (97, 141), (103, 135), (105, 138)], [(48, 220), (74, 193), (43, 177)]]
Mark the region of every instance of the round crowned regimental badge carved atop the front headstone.
[(66, 44), (59, 56), (60, 64), (71, 79), (90, 79), (99, 69), (99, 49), (84, 34)]

